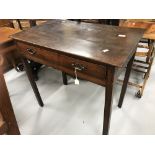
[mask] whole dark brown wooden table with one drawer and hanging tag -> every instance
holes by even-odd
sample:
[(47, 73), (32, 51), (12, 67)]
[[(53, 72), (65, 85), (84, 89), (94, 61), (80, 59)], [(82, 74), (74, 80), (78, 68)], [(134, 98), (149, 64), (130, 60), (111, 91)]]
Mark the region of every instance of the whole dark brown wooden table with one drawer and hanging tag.
[[(119, 105), (122, 104), (136, 47), (143, 29), (51, 20), (12, 36), (38, 103), (43, 106), (27, 59), (61, 70), (64, 74), (106, 87), (103, 134), (109, 133), (113, 87), (126, 67)], [(67, 78), (63, 77), (64, 84)], [(118, 105), (118, 106), (119, 106)]]

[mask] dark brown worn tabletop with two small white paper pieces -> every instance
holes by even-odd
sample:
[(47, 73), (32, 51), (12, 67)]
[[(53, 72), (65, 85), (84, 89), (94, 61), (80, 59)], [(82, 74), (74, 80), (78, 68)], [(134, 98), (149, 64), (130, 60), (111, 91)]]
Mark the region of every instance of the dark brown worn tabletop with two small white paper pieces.
[(123, 67), (135, 52), (134, 49), (143, 33), (143, 29), (51, 20), (17, 33), (12, 38), (61, 54)]

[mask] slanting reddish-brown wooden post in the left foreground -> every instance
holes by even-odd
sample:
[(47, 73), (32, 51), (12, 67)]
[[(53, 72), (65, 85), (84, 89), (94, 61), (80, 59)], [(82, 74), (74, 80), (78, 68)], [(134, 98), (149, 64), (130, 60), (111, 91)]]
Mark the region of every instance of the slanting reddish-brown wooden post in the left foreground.
[[(2, 65), (0, 57), (0, 66)], [(3, 131), (6, 130), (6, 134), (9, 135), (18, 135), (20, 134), (19, 128), (17, 125), (17, 121), (14, 115), (14, 111), (11, 105), (11, 101), (9, 98), (8, 90), (6, 87), (6, 83), (3, 77), (2, 68), (0, 67), (0, 112), (2, 114), (4, 122)], [(7, 128), (6, 128), (7, 125)]]

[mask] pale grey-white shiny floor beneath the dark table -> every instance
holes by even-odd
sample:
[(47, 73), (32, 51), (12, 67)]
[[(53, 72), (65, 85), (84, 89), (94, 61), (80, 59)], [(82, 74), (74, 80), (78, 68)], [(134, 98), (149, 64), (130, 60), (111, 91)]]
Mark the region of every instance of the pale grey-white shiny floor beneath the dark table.
[[(132, 73), (131, 80), (141, 76)], [(43, 67), (39, 73), (39, 87), (45, 103), (39, 107), (25, 72), (11, 70), (5, 79), (21, 134), (77, 134), (101, 135), (105, 88), (80, 80), (74, 85), (62, 84), (61, 72)], [(117, 107), (121, 85), (117, 84), (110, 134), (155, 134), (155, 64), (141, 99), (135, 97), (137, 89), (129, 86), (124, 105)]]

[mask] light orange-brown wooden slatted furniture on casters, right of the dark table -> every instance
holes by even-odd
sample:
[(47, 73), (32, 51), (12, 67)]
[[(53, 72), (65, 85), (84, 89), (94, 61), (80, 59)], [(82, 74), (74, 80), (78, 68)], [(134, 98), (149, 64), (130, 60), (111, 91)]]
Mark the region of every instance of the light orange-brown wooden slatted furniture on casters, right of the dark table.
[[(120, 23), (123, 27), (144, 28), (145, 34), (138, 44), (137, 48), (146, 49), (146, 51), (137, 50), (132, 69), (142, 73), (143, 82), (141, 84), (129, 82), (129, 85), (137, 87), (139, 90), (136, 93), (138, 98), (141, 98), (150, 75), (152, 63), (154, 60), (154, 40), (155, 40), (155, 23), (150, 21), (123, 21)], [(144, 45), (142, 43), (147, 43)], [(142, 59), (143, 58), (143, 59)], [(122, 82), (119, 80), (119, 82)]]

